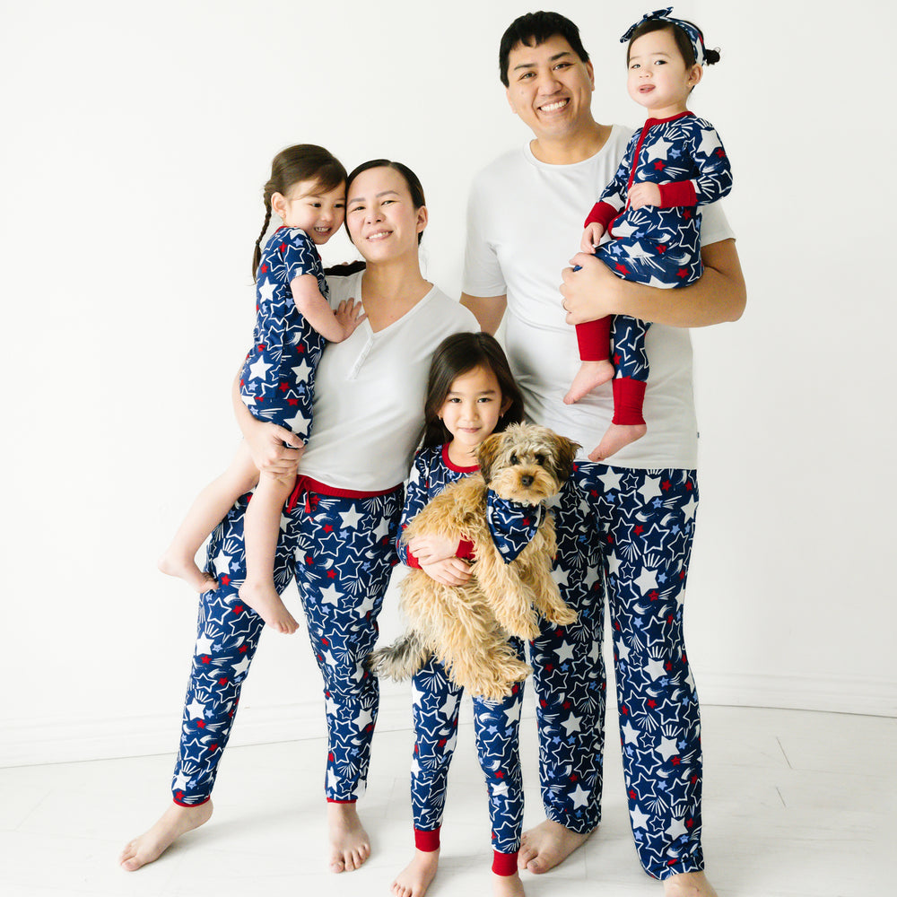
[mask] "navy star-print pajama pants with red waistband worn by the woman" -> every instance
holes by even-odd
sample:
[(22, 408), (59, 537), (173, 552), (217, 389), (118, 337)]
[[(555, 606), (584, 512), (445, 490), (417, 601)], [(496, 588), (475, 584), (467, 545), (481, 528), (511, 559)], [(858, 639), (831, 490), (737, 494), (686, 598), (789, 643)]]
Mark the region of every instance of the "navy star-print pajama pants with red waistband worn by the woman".
[[(239, 692), (264, 623), (239, 601), (246, 576), (241, 497), (213, 533), (206, 569), (220, 583), (200, 597), (196, 653), (187, 686), (175, 803), (196, 806), (212, 794), (231, 733)], [(327, 799), (361, 797), (370, 761), (379, 689), (361, 666), (377, 640), (377, 616), (396, 564), (402, 490), (350, 498), (304, 492), (284, 509), (274, 585), (295, 577), (311, 649), (324, 678), (328, 753)]]

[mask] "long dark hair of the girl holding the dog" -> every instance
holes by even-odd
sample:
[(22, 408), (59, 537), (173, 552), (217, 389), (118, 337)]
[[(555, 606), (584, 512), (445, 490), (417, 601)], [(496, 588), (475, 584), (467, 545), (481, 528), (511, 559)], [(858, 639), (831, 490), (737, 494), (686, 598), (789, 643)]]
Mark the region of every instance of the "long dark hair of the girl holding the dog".
[(501, 432), (511, 423), (523, 422), (523, 396), (498, 340), (484, 333), (454, 334), (439, 344), (430, 364), (427, 401), (423, 406), (423, 448), (444, 445), (452, 440), (452, 434), (440, 418), (440, 410), (455, 380), (475, 368), (491, 370), (499, 381), (502, 404), (510, 399), (508, 410), (499, 418), (495, 431)]

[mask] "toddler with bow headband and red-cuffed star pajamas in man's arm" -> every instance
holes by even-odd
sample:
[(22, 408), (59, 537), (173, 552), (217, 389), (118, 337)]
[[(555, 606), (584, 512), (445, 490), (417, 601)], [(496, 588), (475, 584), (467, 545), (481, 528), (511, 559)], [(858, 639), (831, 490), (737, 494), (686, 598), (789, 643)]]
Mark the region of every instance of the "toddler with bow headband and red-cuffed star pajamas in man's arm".
[[(673, 7), (645, 13), (623, 34), (629, 41), (627, 88), (649, 118), (632, 135), (614, 179), (586, 219), (582, 252), (595, 255), (624, 280), (664, 288), (701, 277), (701, 205), (732, 188), (728, 157), (709, 121), (686, 109), (704, 65), (719, 60), (704, 47), (701, 29), (675, 19)], [(605, 243), (598, 245), (604, 236)], [(568, 405), (613, 379), (614, 418), (588, 456), (603, 461), (640, 439), (649, 376), (645, 335), (649, 324), (626, 315), (576, 327), (581, 365)], [(609, 342), (614, 344), (614, 360)]]

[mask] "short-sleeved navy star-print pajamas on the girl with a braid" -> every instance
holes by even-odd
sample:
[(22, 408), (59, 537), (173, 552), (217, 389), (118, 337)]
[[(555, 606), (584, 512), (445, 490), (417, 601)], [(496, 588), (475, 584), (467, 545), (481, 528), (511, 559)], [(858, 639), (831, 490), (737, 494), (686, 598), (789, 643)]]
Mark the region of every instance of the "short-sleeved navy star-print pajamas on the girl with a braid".
[(290, 283), (314, 274), (328, 298), (318, 248), (298, 227), (280, 227), (258, 264), (253, 346), (239, 375), (239, 394), (259, 420), (308, 439), (315, 371), (326, 340), (296, 308)]

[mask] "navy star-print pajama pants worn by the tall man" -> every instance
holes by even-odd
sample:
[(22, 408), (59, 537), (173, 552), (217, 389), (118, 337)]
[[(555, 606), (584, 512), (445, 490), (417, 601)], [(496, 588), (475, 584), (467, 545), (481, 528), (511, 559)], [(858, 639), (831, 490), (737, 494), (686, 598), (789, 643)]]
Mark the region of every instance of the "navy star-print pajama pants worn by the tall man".
[(545, 811), (590, 832), (601, 816), (604, 577), (632, 832), (659, 879), (703, 867), (700, 720), (683, 639), (697, 501), (691, 470), (579, 463), (553, 509), (555, 577), (579, 621), (546, 625), (531, 645)]

